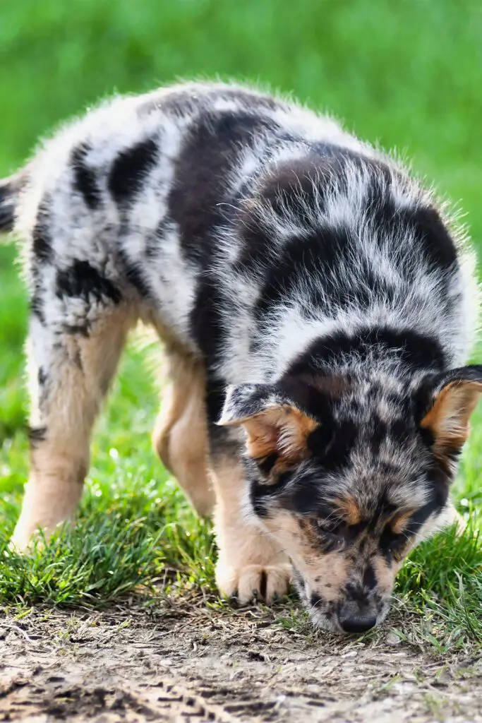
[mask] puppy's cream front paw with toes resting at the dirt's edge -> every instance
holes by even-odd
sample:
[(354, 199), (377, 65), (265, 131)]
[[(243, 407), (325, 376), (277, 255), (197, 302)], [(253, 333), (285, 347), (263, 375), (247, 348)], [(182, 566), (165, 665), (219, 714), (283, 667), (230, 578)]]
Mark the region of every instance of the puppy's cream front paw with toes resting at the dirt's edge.
[(290, 580), (289, 563), (245, 565), (241, 568), (218, 564), (216, 569), (216, 582), (220, 591), (228, 597), (236, 596), (241, 605), (252, 601), (271, 603), (288, 593)]

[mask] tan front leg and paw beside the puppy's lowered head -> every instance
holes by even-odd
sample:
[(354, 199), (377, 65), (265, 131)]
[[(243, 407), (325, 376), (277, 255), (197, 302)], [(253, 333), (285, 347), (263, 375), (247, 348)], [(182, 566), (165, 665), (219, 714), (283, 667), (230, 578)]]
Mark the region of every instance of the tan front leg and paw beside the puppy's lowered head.
[(212, 459), (211, 474), (216, 494), (218, 588), (225, 595), (236, 595), (241, 604), (253, 599), (272, 602), (285, 595), (291, 565), (275, 539), (246, 515), (246, 479), (237, 455)]

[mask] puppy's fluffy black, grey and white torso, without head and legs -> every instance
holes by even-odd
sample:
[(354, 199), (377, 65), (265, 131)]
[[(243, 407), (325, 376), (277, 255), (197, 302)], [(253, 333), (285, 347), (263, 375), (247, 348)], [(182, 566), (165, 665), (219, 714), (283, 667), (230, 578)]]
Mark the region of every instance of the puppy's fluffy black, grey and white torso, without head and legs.
[[(80, 328), (92, 299), (137, 296), (225, 382), (279, 377), (319, 338), (370, 346), (410, 330), (407, 353), (447, 368), (473, 337), (470, 254), (430, 194), (334, 121), (268, 95), (186, 85), (113, 100), (10, 188), (28, 266), (57, 275), (34, 309), (60, 318), (78, 288)], [(1, 208), (8, 228), (12, 198)]]

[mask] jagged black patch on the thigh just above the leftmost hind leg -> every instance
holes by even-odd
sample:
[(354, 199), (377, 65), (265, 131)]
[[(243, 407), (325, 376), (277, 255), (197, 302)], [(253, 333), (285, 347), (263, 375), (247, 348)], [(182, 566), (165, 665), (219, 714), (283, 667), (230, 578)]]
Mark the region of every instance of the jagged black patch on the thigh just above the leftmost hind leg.
[(97, 301), (109, 299), (119, 304), (121, 292), (106, 276), (101, 275), (88, 261), (74, 260), (72, 266), (59, 270), (56, 278), (56, 296), (78, 297), (87, 301), (94, 296)]

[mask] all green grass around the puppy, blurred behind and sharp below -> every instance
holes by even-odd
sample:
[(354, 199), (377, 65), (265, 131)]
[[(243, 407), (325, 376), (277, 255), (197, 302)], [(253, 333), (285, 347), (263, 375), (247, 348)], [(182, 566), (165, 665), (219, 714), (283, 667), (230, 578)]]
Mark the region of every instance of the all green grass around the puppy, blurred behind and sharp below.
[[(293, 91), (397, 147), (460, 202), (482, 239), (482, 8), (473, 0), (22, 0), (0, 9), (0, 171), (40, 134), (105, 93), (178, 77), (237, 77)], [(191, 514), (150, 447), (158, 406), (130, 346), (92, 448), (74, 531), (20, 558), (7, 539), (27, 474), (22, 381), (25, 291), (0, 247), (0, 596), (5, 604), (107, 604), (152, 581), (213, 587), (210, 529)], [(482, 415), (455, 497), (480, 521)], [(482, 642), (482, 545), (444, 534), (400, 573), (400, 635), (438, 646)], [(168, 573), (166, 573), (166, 570)], [(145, 587), (143, 587), (145, 589)], [(285, 624), (304, 620), (291, 604)], [(404, 622), (405, 621), (405, 622)]]

